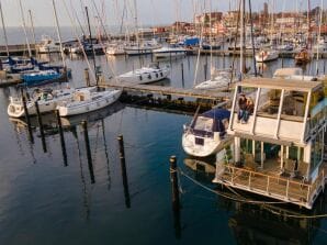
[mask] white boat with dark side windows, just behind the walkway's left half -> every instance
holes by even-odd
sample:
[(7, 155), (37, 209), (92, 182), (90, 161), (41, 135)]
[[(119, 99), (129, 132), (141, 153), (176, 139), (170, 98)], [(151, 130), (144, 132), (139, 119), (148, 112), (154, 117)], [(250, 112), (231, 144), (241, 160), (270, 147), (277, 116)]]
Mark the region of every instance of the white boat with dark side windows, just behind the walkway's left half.
[(142, 67), (140, 69), (122, 74), (117, 77), (117, 80), (126, 82), (149, 83), (162, 80), (167, 78), (169, 74), (169, 66), (160, 68), (159, 65), (151, 64), (148, 67)]

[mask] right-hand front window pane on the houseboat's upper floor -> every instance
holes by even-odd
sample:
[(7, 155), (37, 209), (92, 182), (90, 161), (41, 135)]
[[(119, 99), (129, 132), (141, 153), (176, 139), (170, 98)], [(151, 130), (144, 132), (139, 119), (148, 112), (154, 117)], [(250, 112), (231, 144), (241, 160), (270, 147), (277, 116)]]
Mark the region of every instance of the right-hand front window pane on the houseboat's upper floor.
[(285, 91), (281, 118), (302, 120), (305, 114), (306, 98), (307, 92)]

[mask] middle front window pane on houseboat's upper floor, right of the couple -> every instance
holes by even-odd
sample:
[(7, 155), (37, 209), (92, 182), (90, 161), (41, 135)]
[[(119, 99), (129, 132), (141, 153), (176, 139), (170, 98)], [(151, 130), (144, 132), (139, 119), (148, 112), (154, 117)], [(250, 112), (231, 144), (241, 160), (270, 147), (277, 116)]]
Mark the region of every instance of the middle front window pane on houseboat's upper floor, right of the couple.
[(258, 115), (277, 119), (281, 101), (281, 92), (280, 89), (261, 89)]

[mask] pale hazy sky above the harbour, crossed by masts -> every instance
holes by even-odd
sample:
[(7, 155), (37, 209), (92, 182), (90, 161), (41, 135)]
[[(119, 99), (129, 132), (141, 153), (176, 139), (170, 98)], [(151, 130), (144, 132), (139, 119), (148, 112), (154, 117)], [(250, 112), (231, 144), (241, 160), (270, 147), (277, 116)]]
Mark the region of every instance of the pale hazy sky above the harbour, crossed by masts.
[[(2, 3), (5, 26), (22, 26), (20, 0), (0, 0)], [(53, 0), (21, 0), (24, 18), (30, 23), (29, 10), (32, 11), (35, 26), (54, 26)], [(194, 12), (228, 11), (235, 9), (238, 0), (54, 0), (61, 26), (78, 26), (78, 21), (86, 24), (84, 7), (89, 8), (91, 23), (95, 25), (99, 18), (108, 25), (135, 24), (134, 1), (137, 4), (138, 26), (171, 24), (176, 20), (192, 21)], [(247, 0), (246, 0), (247, 1)], [(266, 0), (277, 12), (282, 10), (306, 10), (307, 0)], [(327, 8), (327, 0), (324, 9)], [(64, 4), (66, 2), (66, 7)], [(251, 0), (252, 11), (263, 9), (264, 0)], [(320, 5), (322, 0), (311, 0), (312, 8)], [(123, 11), (124, 3), (126, 11)], [(98, 11), (94, 8), (97, 5)], [(211, 5), (211, 8), (210, 8)], [(274, 5), (274, 8), (272, 8)], [(124, 18), (123, 18), (124, 16)]]

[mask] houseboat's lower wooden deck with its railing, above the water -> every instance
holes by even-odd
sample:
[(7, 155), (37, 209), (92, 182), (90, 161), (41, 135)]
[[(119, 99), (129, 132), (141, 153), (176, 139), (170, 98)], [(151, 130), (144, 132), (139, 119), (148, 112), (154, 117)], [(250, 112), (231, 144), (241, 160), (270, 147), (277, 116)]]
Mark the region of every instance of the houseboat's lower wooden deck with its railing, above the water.
[(301, 178), (281, 175), (275, 162), (267, 160), (263, 168), (256, 163), (252, 167), (227, 165), (223, 174), (216, 175), (214, 182), (312, 209), (325, 186), (325, 170), (327, 170), (326, 164), (322, 166), (316, 180), (309, 183)]

